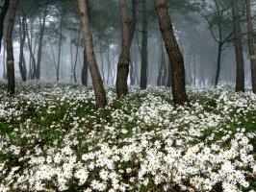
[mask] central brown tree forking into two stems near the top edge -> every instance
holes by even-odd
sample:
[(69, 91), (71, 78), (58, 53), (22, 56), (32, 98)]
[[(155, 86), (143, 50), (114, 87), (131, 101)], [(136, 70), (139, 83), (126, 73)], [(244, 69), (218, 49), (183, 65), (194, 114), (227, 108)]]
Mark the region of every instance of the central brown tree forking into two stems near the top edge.
[(117, 75), (115, 83), (117, 98), (125, 96), (128, 93), (127, 79), (129, 74), (130, 48), (136, 27), (138, 0), (133, 0), (132, 4), (133, 20), (129, 25), (126, 0), (119, 0), (122, 28), (122, 48), (117, 63)]

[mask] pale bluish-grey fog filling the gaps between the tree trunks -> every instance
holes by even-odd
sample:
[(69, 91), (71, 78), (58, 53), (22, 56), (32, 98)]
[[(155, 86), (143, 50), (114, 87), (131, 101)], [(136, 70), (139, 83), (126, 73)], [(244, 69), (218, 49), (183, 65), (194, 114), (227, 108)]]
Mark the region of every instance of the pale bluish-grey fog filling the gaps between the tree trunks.
[[(21, 1), (16, 14), (13, 32), (15, 79), (21, 81), (18, 63), (21, 49), (20, 39), (23, 33), (23, 26), (20, 20), (23, 18), (27, 28), (26, 32), (24, 32), (27, 35), (25, 36), (23, 48), (27, 80), (37, 79), (32, 77), (31, 73), (33, 72), (33, 57), (36, 60), (35, 65), (37, 65), (39, 46), (41, 46), (39, 80), (82, 84), (81, 74), (84, 64), (85, 43), (83, 32), (80, 29), (76, 3), (71, 1), (53, 1), (54, 3), (45, 1), (45, 4), (32, 3), (32, 6), (30, 6), (29, 2)], [(182, 8), (172, 6), (171, 3), (169, 5), (175, 36), (184, 57), (186, 84), (192, 86), (215, 84), (218, 43), (211, 34), (209, 23), (198, 12), (190, 10), (184, 12)], [(129, 10), (131, 15), (131, 5), (129, 5)], [(163, 47), (163, 39), (154, 12), (153, 1), (148, 3), (147, 11), (147, 84), (165, 86), (168, 79), (169, 63), (166, 50)], [(45, 16), (44, 24), (42, 23), (43, 16)], [(140, 84), (141, 20), (142, 12), (141, 4), (139, 4), (137, 27), (131, 46), (130, 74), (128, 78), (128, 84), (131, 85)], [(121, 49), (118, 2), (110, 0), (90, 1), (90, 23), (95, 56), (103, 82), (104, 84), (115, 84), (117, 60)], [(43, 25), (45, 25), (44, 29), (42, 29)], [(7, 18), (4, 26), (4, 32), (6, 32)], [(218, 36), (218, 29), (214, 28), (213, 30)], [(228, 31), (229, 29), (225, 30)], [(39, 42), (39, 36), (42, 36), (41, 42)], [(31, 41), (32, 51), (29, 49), (28, 37)], [(6, 67), (4, 66), (6, 47), (4, 42), (5, 36), (0, 55), (1, 79), (4, 79), (6, 74)], [(236, 80), (236, 58), (232, 37), (223, 45), (221, 51), (218, 84), (233, 84)], [(246, 36), (243, 36), (243, 60), (245, 84), (249, 85), (251, 84), (251, 78)], [(59, 80), (57, 80), (58, 63), (60, 64)], [(90, 72), (88, 84), (91, 84)]]

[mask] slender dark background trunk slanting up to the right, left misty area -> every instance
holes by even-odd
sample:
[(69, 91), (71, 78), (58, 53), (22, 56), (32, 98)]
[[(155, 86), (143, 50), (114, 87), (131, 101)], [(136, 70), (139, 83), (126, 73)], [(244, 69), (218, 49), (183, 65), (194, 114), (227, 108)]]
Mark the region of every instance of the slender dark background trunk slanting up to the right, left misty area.
[(47, 5), (45, 5), (44, 11), (43, 11), (42, 22), (40, 21), (40, 33), (39, 33), (39, 42), (38, 42), (38, 63), (37, 63), (37, 68), (36, 68), (36, 79), (37, 80), (40, 79), (42, 39), (44, 36), (46, 16), (47, 16)]

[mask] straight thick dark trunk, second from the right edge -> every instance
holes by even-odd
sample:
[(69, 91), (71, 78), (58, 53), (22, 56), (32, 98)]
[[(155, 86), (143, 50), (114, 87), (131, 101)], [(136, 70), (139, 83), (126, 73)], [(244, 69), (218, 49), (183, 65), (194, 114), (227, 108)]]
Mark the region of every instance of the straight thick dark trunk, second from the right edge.
[(244, 92), (244, 64), (243, 64), (243, 46), (241, 39), (241, 18), (239, 13), (238, 0), (232, 0), (232, 13), (234, 21), (234, 35), (235, 35), (235, 51), (237, 60), (237, 78), (236, 78), (236, 92)]

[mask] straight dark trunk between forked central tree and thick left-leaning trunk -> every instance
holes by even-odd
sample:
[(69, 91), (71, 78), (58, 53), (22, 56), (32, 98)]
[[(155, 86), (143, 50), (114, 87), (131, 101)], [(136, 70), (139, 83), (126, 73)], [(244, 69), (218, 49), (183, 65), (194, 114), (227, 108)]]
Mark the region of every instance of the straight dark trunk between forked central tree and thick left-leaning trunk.
[(147, 85), (147, 11), (146, 0), (142, 1), (143, 21), (142, 21), (142, 42), (141, 42), (141, 88)]

